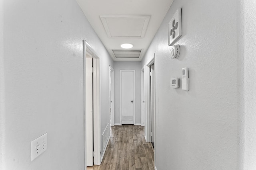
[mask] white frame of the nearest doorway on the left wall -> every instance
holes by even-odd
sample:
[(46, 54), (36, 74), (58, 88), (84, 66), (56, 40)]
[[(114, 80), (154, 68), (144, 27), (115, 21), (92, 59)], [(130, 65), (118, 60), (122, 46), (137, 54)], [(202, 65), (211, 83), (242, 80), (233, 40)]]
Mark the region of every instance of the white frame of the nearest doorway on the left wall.
[(90, 45), (83, 40), (83, 63), (84, 63), (84, 158), (86, 169), (86, 53), (93, 59), (93, 145), (94, 145), (94, 164), (100, 165), (100, 59)]

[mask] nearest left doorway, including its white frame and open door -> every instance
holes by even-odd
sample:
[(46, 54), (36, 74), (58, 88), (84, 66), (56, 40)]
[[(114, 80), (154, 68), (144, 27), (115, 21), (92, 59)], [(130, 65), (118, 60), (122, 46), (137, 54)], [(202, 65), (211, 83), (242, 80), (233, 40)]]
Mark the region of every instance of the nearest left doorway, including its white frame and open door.
[(84, 48), (84, 152), (85, 167), (100, 164), (100, 63), (96, 52)]

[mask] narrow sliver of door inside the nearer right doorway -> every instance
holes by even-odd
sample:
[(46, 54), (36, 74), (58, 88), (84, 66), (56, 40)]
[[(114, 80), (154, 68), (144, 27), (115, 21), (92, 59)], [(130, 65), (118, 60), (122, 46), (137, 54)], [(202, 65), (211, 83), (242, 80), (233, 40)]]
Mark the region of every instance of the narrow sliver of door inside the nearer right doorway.
[(151, 98), (151, 111), (150, 111), (150, 118), (151, 118), (151, 143), (154, 147), (154, 137), (155, 137), (155, 106), (154, 106), (154, 99), (155, 99), (155, 78), (154, 78), (154, 65), (150, 66), (150, 98)]

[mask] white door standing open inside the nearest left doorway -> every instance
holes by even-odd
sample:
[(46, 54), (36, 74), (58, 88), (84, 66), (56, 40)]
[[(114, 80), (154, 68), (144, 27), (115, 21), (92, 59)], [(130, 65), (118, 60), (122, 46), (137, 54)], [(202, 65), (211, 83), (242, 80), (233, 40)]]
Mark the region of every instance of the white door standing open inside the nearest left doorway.
[(86, 58), (86, 166), (93, 166), (92, 58)]

